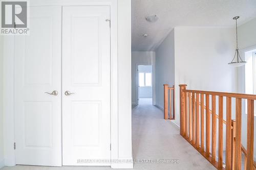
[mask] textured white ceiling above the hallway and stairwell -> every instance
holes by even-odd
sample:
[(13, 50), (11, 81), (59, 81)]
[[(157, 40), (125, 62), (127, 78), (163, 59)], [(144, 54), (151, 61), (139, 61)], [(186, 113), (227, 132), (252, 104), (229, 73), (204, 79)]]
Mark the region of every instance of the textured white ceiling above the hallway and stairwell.
[(256, 17), (256, 0), (132, 0), (132, 51), (155, 51), (174, 27), (234, 27), (233, 16), (238, 25)]

